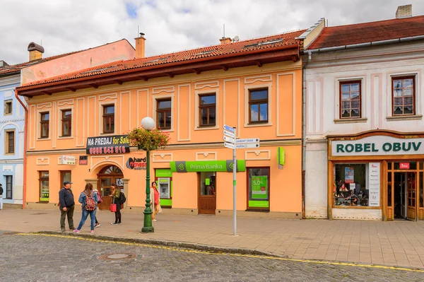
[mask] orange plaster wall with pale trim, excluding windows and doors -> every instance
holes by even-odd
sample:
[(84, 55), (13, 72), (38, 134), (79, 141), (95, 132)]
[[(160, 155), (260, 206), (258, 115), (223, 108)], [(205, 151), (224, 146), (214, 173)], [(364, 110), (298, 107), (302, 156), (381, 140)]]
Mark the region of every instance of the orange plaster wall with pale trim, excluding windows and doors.
[[(85, 180), (97, 178), (102, 167), (115, 164), (129, 179), (127, 206), (141, 211), (144, 201), (145, 170), (130, 170), (125, 162), (129, 157), (144, 158), (143, 151), (121, 155), (89, 155), (88, 165), (58, 165), (60, 155), (86, 155), (86, 141), (102, 136), (102, 105), (115, 105), (115, 132), (125, 134), (138, 127), (141, 119), (155, 119), (155, 100), (172, 98), (171, 146), (152, 152), (151, 175), (154, 168), (170, 168), (175, 160), (229, 160), (232, 150), (223, 146), (223, 124), (237, 127), (237, 137), (261, 139), (261, 147), (237, 150), (237, 158), (246, 160), (247, 167), (270, 168), (270, 211), (287, 213), (301, 218), (301, 63), (283, 62), (259, 68), (251, 66), (228, 71), (208, 71), (174, 78), (155, 78), (148, 81), (124, 83), (99, 89), (77, 90), (37, 96), (29, 101), (28, 183), (27, 201), (36, 203), (39, 197), (37, 175), (49, 170), (51, 204), (57, 203), (59, 170), (71, 170), (73, 187), (83, 189)], [(249, 88), (269, 88), (269, 124), (248, 124), (247, 99)], [(216, 93), (216, 127), (199, 128), (199, 94)], [(73, 134), (60, 137), (59, 115), (62, 109), (73, 111)], [(40, 139), (40, 112), (50, 112), (50, 136)], [(178, 145), (173, 146), (173, 145)], [(285, 149), (283, 170), (278, 170), (277, 148)], [(132, 150), (132, 148), (131, 148)], [(74, 177), (78, 175), (78, 177)], [(232, 209), (232, 173), (217, 172), (217, 213)], [(172, 209), (196, 213), (196, 172), (172, 175)], [(29, 184), (28, 184), (29, 185)], [(237, 209), (247, 206), (247, 175), (237, 172)], [(219, 211), (219, 212), (218, 212)], [(295, 214), (298, 213), (296, 216)]]

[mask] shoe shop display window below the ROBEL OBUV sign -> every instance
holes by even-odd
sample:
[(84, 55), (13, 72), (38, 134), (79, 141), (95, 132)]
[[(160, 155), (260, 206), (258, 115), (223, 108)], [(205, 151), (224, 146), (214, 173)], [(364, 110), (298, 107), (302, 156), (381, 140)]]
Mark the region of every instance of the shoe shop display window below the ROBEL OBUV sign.
[(379, 206), (370, 204), (368, 172), (368, 163), (335, 164), (334, 206)]

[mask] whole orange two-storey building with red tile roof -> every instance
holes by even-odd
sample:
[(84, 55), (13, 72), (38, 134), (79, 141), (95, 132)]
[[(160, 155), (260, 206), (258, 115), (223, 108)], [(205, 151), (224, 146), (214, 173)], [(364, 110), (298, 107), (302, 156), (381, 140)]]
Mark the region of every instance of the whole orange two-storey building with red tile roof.
[(18, 95), (28, 98), (26, 207), (54, 208), (61, 182), (70, 179), (76, 192), (86, 182), (98, 187), (101, 208), (115, 182), (126, 193), (124, 211), (142, 212), (146, 152), (129, 146), (125, 134), (152, 117), (171, 137), (151, 153), (165, 212), (232, 213), (227, 124), (237, 139), (260, 139), (259, 147), (237, 148), (237, 213), (302, 218), (304, 31), (223, 38), (155, 57), (144, 57), (139, 37), (136, 59), (21, 86)]

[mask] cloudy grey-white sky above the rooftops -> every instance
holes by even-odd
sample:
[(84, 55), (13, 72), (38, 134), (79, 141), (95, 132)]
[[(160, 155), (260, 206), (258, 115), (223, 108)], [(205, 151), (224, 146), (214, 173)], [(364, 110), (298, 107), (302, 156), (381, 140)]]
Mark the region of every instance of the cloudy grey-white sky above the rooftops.
[(146, 55), (216, 45), (225, 35), (240, 40), (309, 28), (394, 18), (397, 6), (423, 0), (0, 0), (0, 60), (28, 61), (30, 42), (44, 57), (87, 49), (145, 33)]

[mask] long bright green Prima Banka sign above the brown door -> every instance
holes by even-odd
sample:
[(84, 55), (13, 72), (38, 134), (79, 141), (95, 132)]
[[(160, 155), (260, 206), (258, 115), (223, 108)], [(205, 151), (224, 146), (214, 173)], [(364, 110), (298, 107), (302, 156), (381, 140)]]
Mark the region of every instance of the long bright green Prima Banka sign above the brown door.
[[(232, 160), (199, 160), (170, 162), (171, 172), (232, 172)], [(237, 160), (237, 171), (246, 171), (245, 160)]]

